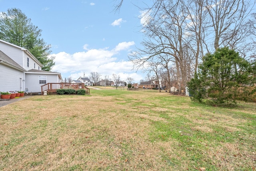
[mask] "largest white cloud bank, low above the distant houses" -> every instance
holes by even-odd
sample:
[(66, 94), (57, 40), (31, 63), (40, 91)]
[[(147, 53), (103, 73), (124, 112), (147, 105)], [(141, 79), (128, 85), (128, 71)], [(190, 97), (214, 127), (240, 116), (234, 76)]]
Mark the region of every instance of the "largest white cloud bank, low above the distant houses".
[[(52, 54), (55, 56), (55, 66), (53, 71), (60, 72), (62, 78), (78, 79), (79, 77), (89, 76), (90, 72), (98, 72), (102, 76), (112, 74), (120, 75), (121, 80), (126, 80), (127, 77), (132, 77), (134, 80), (140, 80), (142, 77), (132, 71), (133, 64), (130, 61), (118, 60), (115, 57), (122, 51), (130, 50), (131, 46), (135, 43), (121, 42), (115, 48), (109, 49), (108, 47), (102, 49), (89, 49), (88, 44), (83, 46), (85, 52), (76, 52), (68, 54), (60, 52)], [(135, 78), (136, 77), (136, 78)]]

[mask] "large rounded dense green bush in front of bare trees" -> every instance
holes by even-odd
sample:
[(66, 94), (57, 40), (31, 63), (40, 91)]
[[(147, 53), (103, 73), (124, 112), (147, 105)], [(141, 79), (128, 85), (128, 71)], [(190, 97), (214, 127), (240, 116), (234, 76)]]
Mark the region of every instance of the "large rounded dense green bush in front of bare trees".
[[(228, 48), (206, 54), (198, 66), (198, 73), (188, 83), (192, 100), (208, 99), (215, 103), (236, 103), (241, 97), (246, 100), (247, 87), (255, 82), (252, 66), (238, 52)], [(251, 89), (250, 93), (253, 91)]]

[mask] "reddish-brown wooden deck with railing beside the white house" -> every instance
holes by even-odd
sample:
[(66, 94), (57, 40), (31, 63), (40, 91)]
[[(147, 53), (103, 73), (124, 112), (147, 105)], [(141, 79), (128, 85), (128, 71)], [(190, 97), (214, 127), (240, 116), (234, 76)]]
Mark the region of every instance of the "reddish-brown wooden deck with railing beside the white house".
[(86, 93), (90, 94), (90, 89), (84, 86), (83, 83), (48, 83), (41, 86), (41, 93), (47, 91), (47, 94), (57, 94), (57, 89), (85, 89)]

